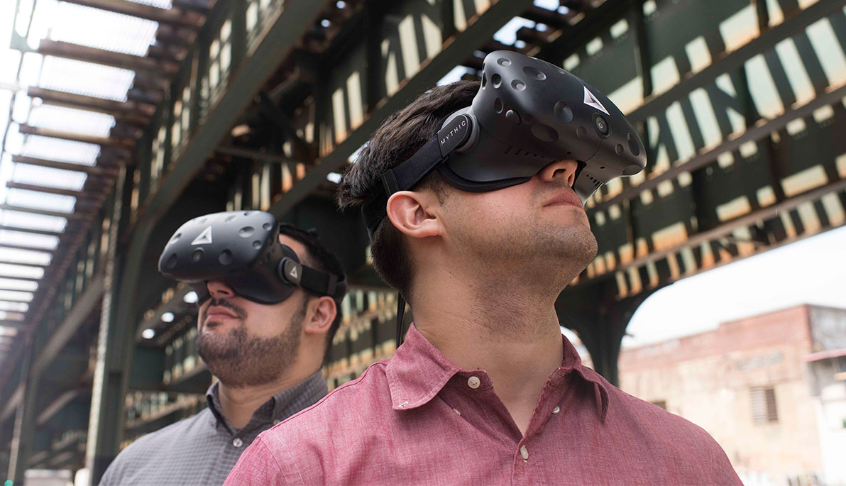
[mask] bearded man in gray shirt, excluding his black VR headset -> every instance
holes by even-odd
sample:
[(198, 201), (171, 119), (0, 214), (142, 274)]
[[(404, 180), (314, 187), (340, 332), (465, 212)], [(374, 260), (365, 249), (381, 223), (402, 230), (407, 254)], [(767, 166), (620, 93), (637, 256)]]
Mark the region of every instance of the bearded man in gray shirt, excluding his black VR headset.
[[(311, 232), (283, 225), (279, 240), (313, 269), (341, 276), (338, 259)], [(208, 408), (135, 440), (101, 484), (222, 484), (255, 437), (327, 394), (321, 363), (340, 324), (340, 299), (297, 287), (280, 303), (206, 283), (197, 351), (217, 376)]]

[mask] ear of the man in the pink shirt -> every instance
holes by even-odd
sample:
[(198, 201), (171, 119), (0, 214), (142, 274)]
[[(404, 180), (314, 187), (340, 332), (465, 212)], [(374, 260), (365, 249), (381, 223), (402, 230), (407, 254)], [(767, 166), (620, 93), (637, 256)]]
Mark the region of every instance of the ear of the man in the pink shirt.
[(431, 191), (398, 191), (387, 199), (387, 217), (412, 238), (442, 234), (440, 203)]

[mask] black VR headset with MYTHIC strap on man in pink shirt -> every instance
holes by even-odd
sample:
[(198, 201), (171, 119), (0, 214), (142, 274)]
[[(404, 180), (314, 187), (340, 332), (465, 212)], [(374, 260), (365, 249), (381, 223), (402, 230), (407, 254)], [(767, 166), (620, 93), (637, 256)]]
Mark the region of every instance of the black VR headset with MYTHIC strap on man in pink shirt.
[[(387, 199), (437, 170), (470, 192), (530, 180), (555, 161), (579, 167), (573, 189), (582, 204), (597, 188), (646, 167), (637, 130), (607, 96), (558, 66), (518, 52), (494, 51), (482, 63), (471, 106), (449, 115), (414, 156), (382, 174), (383, 190), (362, 205), (371, 237), (385, 218)], [(405, 303), (398, 302), (397, 345)]]

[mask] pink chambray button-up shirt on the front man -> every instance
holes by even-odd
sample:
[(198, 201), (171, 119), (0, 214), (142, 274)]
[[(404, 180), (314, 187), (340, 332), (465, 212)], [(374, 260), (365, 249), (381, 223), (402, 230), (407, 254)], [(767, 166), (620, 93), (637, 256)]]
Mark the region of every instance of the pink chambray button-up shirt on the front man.
[(705, 430), (564, 358), (525, 435), (484, 370), (414, 325), (374, 363), (258, 436), (226, 484), (741, 484)]

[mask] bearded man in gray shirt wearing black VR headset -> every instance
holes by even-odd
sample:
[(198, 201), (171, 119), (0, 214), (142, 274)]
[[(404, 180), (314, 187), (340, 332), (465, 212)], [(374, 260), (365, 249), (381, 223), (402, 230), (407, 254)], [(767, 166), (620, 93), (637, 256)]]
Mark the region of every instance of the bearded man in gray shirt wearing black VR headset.
[(258, 434), (326, 395), (343, 270), (315, 233), (259, 211), (188, 221), (159, 270), (198, 293), (197, 351), (218, 380), (208, 408), (136, 440), (101, 483), (221, 484)]

